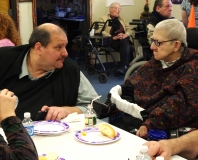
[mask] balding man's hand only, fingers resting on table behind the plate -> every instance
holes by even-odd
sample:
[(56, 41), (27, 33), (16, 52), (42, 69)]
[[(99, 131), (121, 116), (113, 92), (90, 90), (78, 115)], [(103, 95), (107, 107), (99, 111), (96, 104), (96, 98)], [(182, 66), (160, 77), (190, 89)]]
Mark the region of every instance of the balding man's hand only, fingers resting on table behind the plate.
[(56, 106), (43, 106), (41, 108), (42, 112), (47, 111), (47, 115), (45, 117), (45, 120), (61, 120), (62, 118), (65, 118), (70, 114), (69, 110), (66, 109), (66, 107), (56, 107)]

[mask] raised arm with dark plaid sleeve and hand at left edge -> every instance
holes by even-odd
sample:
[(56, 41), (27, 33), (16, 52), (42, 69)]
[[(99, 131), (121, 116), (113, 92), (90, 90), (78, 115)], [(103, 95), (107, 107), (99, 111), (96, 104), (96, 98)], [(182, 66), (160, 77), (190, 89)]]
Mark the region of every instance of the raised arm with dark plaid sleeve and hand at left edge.
[(38, 154), (32, 138), (15, 115), (16, 96), (3, 89), (0, 92), (0, 122), (7, 142), (0, 135), (0, 158), (38, 160)]

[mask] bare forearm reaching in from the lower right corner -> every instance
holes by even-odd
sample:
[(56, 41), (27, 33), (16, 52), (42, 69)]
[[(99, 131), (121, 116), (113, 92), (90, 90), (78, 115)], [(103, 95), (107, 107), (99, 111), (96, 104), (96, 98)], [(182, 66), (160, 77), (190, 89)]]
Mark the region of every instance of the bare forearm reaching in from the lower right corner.
[(171, 155), (180, 155), (187, 159), (196, 159), (198, 155), (198, 130), (192, 131), (179, 138), (159, 141), (171, 148)]

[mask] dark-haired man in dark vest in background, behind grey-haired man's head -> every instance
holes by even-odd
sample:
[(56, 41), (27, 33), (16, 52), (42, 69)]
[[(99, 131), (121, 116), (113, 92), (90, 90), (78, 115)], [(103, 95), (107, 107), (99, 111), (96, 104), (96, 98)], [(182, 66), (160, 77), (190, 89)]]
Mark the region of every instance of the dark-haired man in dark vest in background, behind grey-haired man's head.
[(148, 30), (148, 42), (151, 44), (151, 36), (155, 26), (166, 19), (172, 18), (172, 2), (171, 0), (155, 0), (153, 11), (151, 12), (150, 18), (147, 22)]

